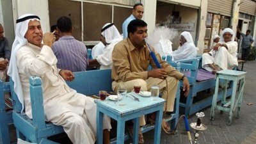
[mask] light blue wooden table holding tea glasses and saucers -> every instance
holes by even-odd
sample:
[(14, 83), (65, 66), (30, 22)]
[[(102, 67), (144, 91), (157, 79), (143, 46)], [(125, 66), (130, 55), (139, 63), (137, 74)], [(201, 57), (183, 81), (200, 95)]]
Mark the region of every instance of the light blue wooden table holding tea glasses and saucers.
[[(135, 101), (131, 95), (138, 97), (140, 102)], [(156, 127), (154, 143), (160, 143), (164, 99), (154, 97), (154, 100), (152, 100), (151, 97), (141, 97), (132, 92), (127, 93), (127, 97), (124, 97), (120, 102), (124, 103), (125, 106), (118, 106), (116, 101), (109, 100), (108, 98), (106, 100), (95, 100), (97, 104), (97, 143), (102, 144), (103, 114), (117, 121), (116, 143), (124, 143), (125, 122), (133, 119), (134, 129), (132, 143), (138, 143), (139, 117), (155, 111)]]

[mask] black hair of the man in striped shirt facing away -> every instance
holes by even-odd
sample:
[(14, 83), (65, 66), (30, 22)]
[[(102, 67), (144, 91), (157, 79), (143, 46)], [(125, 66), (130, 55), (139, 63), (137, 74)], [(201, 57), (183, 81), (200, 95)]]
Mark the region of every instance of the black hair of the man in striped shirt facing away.
[(57, 28), (61, 33), (71, 32), (72, 30), (72, 22), (68, 17), (60, 17), (57, 20)]

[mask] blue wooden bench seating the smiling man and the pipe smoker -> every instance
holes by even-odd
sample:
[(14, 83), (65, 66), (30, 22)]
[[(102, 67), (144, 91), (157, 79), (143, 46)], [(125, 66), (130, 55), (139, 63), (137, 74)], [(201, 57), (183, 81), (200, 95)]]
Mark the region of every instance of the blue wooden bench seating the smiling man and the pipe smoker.
[[(75, 72), (74, 81), (67, 82), (68, 86), (74, 88), (79, 93), (84, 95), (97, 95), (99, 90), (112, 91), (111, 70), (90, 70), (85, 72)], [(42, 86), (40, 77), (29, 77), (31, 108), (33, 120), (28, 116), (22, 115), (21, 104), (17, 99), (17, 95), (13, 92), (13, 82), (11, 81), (11, 92), (13, 95), (13, 123), (16, 127), (17, 137), (22, 140), (31, 141), (34, 143), (54, 143), (47, 138), (49, 136), (64, 132), (60, 126), (45, 122), (44, 105), (42, 97)], [(175, 102), (175, 111), (169, 120), (172, 120), (172, 128), (178, 122), (179, 118), (179, 92), (177, 92)], [(154, 125), (148, 124), (141, 128), (141, 132), (147, 132), (154, 129)], [(125, 134), (125, 140), (129, 139), (129, 135)], [(116, 143), (116, 139), (111, 140), (111, 143)]]

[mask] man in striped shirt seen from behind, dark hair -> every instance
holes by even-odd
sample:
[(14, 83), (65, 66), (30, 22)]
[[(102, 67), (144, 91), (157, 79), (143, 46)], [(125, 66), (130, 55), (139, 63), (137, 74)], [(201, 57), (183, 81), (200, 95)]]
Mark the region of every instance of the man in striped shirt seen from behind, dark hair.
[(52, 51), (57, 57), (57, 67), (72, 72), (85, 71), (88, 65), (87, 49), (83, 42), (72, 36), (72, 22), (68, 17), (57, 20), (60, 39), (52, 45)]

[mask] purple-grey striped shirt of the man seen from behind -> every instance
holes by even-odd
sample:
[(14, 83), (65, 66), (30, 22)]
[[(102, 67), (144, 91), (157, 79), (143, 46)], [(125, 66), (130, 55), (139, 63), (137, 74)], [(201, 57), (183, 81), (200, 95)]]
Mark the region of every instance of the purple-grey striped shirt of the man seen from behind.
[(73, 36), (62, 36), (52, 45), (60, 69), (72, 72), (85, 71), (88, 64), (87, 50), (83, 42), (79, 42)]

